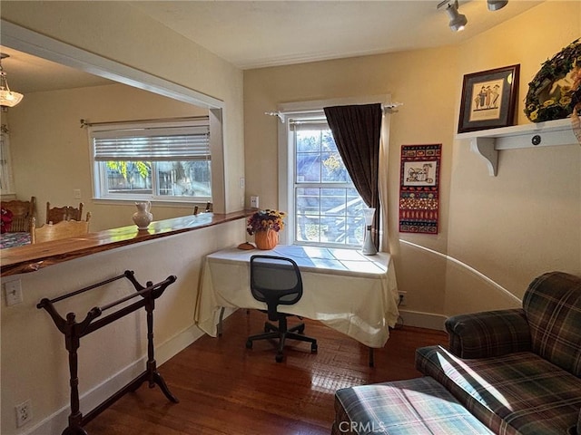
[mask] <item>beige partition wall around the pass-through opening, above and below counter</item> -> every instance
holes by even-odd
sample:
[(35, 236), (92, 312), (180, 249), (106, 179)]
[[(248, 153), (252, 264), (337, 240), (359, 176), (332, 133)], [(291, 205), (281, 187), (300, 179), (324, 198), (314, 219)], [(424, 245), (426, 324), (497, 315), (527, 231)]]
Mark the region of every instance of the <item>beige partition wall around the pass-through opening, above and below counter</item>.
[[(244, 191), (239, 187), (239, 179), (244, 176), (244, 147), (240, 70), (121, 2), (3, 1), (1, 12), (2, 18), (11, 23), (222, 100), (225, 209), (228, 212), (241, 209)], [(103, 114), (109, 113), (106, 107), (94, 109), (95, 117), (99, 115), (102, 121), (109, 119)], [(78, 128), (78, 122), (89, 116), (80, 108), (70, 107), (68, 110), (77, 126), (76, 133), (71, 133), (74, 137), (67, 133), (67, 140), (72, 142), (69, 145), (85, 144), (86, 131)], [(122, 110), (120, 107), (119, 111)], [(20, 126), (13, 124), (11, 128), (16, 134)], [(55, 131), (50, 139), (53, 146), (59, 140), (57, 133)], [(46, 147), (40, 152), (47, 150), (50, 149)], [(75, 150), (79, 152), (78, 158), (84, 160), (84, 145)], [(86, 190), (88, 186), (81, 186), (81, 189), (89, 191)], [(97, 206), (92, 208), (94, 213), (99, 212)], [(193, 325), (193, 308), (202, 258), (223, 247), (235, 246), (243, 239), (244, 221), (241, 219), (3, 279), (3, 282), (21, 280), (24, 303), (10, 307), (3, 303), (0, 307), (0, 432), (3, 435), (45, 435), (61, 433), (66, 426), (69, 388), (64, 339), (48, 314), (36, 309), (35, 304), (41, 297), (62, 295), (123, 273), (125, 269), (134, 270), (138, 279), (143, 281), (157, 282), (167, 275), (176, 275), (177, 282), (156, 304), (156, 359), (161, 363), (201, 334)], [(121, 282), (118, 284), (107, 288), (113, 295), (92, 293), (91, 297), (77, 299), (74, 311), (84, 316), (87, 307), (105, 303), (104, 298), (126, 294), (127, 287), (123, 287)], [(131, 314), (103, 331), (87, 336), (82, 343), (79, 363), (80, 390), (84, 396), (82, 411), (93, 409), (133, 379), (133, 375), (143, 371), (145, 337), (142, 320), (143, 315)], [(32, 401), (33, 420), (16, 429), (15, 405), (27, 399)], [(164, 400), (160, 392), (160, 401)]]

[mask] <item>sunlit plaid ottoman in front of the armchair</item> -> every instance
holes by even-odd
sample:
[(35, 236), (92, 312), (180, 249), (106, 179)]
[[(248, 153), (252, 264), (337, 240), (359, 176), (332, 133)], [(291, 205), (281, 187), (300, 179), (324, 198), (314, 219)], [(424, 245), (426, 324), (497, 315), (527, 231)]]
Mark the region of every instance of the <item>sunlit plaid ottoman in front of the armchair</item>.
[(343, 388), (332, 435), (486, 435), (491, 431), (428, 376)]

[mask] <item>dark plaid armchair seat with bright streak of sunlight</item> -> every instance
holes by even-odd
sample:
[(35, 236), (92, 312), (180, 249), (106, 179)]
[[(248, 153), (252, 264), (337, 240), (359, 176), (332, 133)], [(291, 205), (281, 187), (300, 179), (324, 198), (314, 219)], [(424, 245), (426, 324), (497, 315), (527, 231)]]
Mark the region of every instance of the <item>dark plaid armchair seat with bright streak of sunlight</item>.
[(577, 424), (581, 379), (536, 353), (463, 360), (429, 346), (416, 351), (416, 368), (495, 433), (563, 435)]

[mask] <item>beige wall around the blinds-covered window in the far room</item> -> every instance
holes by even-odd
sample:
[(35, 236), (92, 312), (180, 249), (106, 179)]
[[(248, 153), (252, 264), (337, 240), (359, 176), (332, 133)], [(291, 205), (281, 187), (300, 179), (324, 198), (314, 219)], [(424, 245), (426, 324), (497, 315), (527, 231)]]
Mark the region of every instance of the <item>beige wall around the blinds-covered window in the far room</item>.
[[(55, 103), (57, 102), (57, 103)], [(53, 206), (84, 203), (91, 230), (133, 225), (133, 202), (93, 200), (87, 122), (135, 121), (207, 116), (208, 111), (123, 84), (64, 91), (28, 93), (3, 116), (10, 129), (15, 191), (18, 198), (36, 198), (36, 218), (45, 221), (46, 201)], [(81, 199), (74, 198), (81, 190)], [(192, 214), (192, 206), (153, 204), (154, 220)], [(85, 213), (84, 213), (85, 214)]]

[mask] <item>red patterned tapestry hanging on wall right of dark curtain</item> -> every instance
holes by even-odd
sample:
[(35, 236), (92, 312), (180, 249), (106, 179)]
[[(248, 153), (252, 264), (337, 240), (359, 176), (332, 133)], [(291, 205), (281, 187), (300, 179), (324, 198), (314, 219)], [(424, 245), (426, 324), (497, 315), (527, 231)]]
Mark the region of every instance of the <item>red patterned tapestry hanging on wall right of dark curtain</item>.
[(399, 232), (438, 234), (441, 144), (402, 145)]

